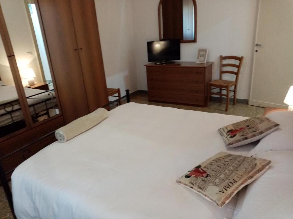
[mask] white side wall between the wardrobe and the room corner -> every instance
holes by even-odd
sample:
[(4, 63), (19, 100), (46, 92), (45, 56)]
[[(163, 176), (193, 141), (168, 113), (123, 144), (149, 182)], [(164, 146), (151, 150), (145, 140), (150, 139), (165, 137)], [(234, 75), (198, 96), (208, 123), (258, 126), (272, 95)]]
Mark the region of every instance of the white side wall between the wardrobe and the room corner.
[[(137, 90), (130, 0), (95, 0), (107, 87)], [(134, 18), (135, 19), (135, 18)]]

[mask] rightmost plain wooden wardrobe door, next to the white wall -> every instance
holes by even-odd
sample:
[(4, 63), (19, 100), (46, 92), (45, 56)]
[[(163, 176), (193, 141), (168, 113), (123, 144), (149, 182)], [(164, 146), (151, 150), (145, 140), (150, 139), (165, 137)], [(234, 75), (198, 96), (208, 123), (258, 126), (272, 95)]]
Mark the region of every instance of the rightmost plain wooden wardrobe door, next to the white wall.
[(90, 112), (108, 103), (94, 0), (70, 0)]

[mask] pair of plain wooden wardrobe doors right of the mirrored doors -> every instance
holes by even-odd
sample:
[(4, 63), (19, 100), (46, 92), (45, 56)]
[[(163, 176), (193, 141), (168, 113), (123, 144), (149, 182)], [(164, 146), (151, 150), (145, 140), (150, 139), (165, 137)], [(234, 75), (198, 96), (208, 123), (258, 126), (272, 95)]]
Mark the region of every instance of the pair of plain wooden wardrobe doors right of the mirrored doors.
[(69, 123), (108, 103), (95, 2), (38, 3), (64, 121)]

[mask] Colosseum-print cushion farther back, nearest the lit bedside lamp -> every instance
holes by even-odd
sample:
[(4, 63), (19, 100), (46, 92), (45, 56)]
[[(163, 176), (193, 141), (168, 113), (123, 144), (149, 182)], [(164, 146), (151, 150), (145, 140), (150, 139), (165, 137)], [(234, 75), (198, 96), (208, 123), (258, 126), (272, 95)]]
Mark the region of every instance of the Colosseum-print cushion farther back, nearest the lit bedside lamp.
[(219, 128), (226, 147), (238, 147), (272, 133), (279, 124), (264, 116), (253, 117)]

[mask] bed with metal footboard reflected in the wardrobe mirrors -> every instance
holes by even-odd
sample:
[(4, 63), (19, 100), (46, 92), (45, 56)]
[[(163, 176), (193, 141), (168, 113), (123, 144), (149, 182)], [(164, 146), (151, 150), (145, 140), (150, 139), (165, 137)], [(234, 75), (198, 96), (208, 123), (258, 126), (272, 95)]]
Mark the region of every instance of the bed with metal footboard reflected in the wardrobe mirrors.
[[(47, 109), (55, 107), (57, 104), (54, 90), (23, 89), (28, 101), (30, 114), (35, 120), (40, 116), (39, 113), (47, 111)], [(0, 93), (0, 127), (22, 121), (23, 113), (15, 86), (2, 85), (0, 86)], [(48, 112), (46, 113), (50, 117)]]

